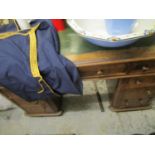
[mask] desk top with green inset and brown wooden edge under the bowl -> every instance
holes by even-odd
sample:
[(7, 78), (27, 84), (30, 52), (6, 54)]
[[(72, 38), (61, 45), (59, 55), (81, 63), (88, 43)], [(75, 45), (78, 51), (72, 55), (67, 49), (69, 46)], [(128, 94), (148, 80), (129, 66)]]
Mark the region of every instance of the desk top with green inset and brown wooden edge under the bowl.
[(61, 53), (77, 66), (92, 63), (114, 64), (155, 60), (155, 36), (138, 40), (136, 43), (123, 48), (105, 48), (95, 46), (73, 30), (67, 28), (59, 32)]

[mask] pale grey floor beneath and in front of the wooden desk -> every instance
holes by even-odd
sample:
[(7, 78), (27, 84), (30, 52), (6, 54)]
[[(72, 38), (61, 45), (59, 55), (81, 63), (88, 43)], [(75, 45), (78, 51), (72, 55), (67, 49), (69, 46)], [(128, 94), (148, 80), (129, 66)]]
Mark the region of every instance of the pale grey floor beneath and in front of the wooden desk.
[[(65, 112), (61, 117), (29, 117), (16, 106), (0, 112), (0, 134), (149, 134), (155, 131), (155, 109), (112, 112), (105, 81), (98, 81), (97, 86), (105, 112), (100, 112), (93, 82), (86, 81), (84, 96), (64, 97)], [(9, 104), (2, 97), (0, 102)]]

